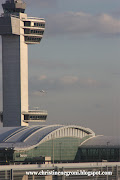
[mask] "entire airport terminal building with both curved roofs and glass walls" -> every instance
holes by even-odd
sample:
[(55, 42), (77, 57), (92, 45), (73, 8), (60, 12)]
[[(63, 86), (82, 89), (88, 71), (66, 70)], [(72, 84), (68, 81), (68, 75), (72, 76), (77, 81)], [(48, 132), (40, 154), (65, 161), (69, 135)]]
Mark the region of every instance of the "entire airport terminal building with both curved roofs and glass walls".
[(81, 126), (0, 128), (0, 163), (120, 161), (120, 139)]

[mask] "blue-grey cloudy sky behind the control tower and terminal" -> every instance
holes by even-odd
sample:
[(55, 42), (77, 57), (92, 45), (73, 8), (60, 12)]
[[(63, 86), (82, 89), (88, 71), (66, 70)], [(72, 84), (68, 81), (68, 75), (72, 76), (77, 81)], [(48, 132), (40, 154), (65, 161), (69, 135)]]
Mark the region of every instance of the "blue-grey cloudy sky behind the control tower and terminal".
[[(46, 21), (40, 45), (29, 45), (30, 109), (47, 110), (46, 124), (120, 136), (120, 1), (25, 2), (28, 16)], [(0, 40), (2, 110), (1, 56)]]

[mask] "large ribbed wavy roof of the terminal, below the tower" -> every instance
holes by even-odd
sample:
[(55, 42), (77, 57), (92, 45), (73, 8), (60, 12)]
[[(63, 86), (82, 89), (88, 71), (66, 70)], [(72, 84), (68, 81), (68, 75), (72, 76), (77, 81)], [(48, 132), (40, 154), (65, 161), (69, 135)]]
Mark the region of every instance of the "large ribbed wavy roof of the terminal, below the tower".
[(71, 125), (4, 127), (0, 128), (0, 149), (32, 149), (43, 142), (55, 138), (77, 137), (82, 139), (85, 136), (94, 135), (94, 132), (89, 128)]

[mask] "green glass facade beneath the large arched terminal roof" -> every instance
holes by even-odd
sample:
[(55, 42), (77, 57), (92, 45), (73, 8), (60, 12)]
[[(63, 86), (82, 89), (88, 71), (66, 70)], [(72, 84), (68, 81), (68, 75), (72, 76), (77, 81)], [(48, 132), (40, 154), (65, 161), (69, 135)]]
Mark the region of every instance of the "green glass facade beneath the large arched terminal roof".
[[(88, 137), (85, 137), (86, 139)], [(85, 138), (83, 138), (85, 140)], [(63, 137), (46, 141), (39, 146), (26, 151), (16, 151), (14, 161), (32, 161), (35, 157), (51, 157), (54, 162), (73, 162), (78, 151), (80, 138)]]

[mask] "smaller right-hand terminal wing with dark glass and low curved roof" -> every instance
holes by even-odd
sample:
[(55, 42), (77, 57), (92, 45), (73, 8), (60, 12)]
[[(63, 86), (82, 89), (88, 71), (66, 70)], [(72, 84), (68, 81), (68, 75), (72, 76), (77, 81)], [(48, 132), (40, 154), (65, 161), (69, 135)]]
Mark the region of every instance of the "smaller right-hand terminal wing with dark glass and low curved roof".
[(79, 145), (77, 162), (120, 161), (120, 137), (96, 136)]

